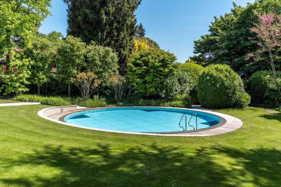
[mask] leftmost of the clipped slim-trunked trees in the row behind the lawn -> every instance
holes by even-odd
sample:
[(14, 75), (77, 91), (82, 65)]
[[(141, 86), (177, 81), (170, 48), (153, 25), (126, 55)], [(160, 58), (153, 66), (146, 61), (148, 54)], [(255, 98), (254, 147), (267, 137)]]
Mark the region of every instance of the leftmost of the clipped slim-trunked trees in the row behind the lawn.
[(62, 38), (63, 35), (56, 31), (48, 35), (39, 33), (32, 40), (31, 47), (24, 50), (25, 56), (33, 61), (29, 79), (37, 85), (38, 95), (40, 95), (40, 86), (50, 79), (51, 68), (54, 65), (57, 49), (63, 42)]

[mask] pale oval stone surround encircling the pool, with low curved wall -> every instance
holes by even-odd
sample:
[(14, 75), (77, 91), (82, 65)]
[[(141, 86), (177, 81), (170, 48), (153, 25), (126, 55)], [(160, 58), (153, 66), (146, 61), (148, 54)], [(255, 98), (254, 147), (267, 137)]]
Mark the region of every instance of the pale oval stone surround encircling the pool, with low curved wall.
[[(124, 107), (149, 107), (149, 106), (124, 106)], [(213, 127), (199, 129), (197, 131), (186, 131), (186, 132), (170, 132), (167, 133), (143, 133), (143, 132), (123, 132), (123, 131), (112, 131), (112, 130), (105, 130), (105, 129), (99, 129), (99, 128), (90, 128), (90, 127), (82, 127), (79, 125), (73, 125), (70, 123), (66, 123), (63, 121), (60, 121), (59, 119), (62, 119), (62, 117), (65, 117), (66, 115), (81, 112), (85, 110), (94, 110), (94, 109), (103, 109), (103, 108), (124, 108), (124, 107), (97, 107), (97, 108), (88, 108), (88, 109), (77, 109), (77, 106), (60, 106), (60, 107), (50, 107), (46, 109), (40, 110), (37, 114), (38, 116), (57, 122), (63, 125), (78, 127), (78, 128), (85, 128), (85, 129), (91, 129), (91, 130), (98, 130), (98, 131), (104, 131), (104, 132), (115, 132), (115, 133), (124, 133), (124, 134), (137, 134), (137, 135), (158, 135), (158, 136), (211, 136), (211, 135), (219, 135), (224, 134), (227, 132), (234, 131), (238, 128), (240, 128), (243, 125), (243, 122), (235, 118), (233, 116), (229, 116), (227, 114), (222, 114), (218, 112), (213, 112), (209, 110), (204, 109), (192, 109), (192, 108), (174, 108), (174, 107), (154, 107), (153, 108), (172, 108), (172, 109), (185, 109), (185, 110), (192, 110), (192, 111), (199, 111), (203, 113), (209, 113), (212, 115), (215, 115), (221, 119), (221, 122), (217, 125), (214, 125)]]

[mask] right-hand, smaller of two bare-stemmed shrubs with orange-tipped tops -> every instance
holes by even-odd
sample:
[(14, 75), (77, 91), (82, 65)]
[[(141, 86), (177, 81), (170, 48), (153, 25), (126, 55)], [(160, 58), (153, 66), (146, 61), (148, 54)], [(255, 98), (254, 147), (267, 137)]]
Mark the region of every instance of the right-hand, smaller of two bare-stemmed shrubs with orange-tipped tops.
[(109, 82), (111, 85), (114, 99), (117, 103), (119, 103), (123, 99), (125, 92), (128, 88), (127, 81), (122, 75), (113, 75), (109, 79)]

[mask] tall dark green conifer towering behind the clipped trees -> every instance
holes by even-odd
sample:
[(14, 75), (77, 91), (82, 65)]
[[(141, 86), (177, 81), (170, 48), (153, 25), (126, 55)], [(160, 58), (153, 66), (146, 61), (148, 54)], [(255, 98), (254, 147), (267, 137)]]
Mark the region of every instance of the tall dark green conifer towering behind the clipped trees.
[(141, 0), (63, 1), (68, 6), (68, 35), (114, 49), (118, 53), (119, 72), (124, 74), (136, 34), (134, 11)]

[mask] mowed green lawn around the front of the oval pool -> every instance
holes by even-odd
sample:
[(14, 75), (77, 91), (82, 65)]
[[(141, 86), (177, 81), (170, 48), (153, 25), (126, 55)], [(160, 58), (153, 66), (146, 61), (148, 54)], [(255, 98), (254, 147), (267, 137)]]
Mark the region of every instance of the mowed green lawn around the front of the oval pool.
[(280, 186), (281, 117), (217, 110), (244, 125), (210, 137), (99, 132), (0, 107), (0, 186)]

